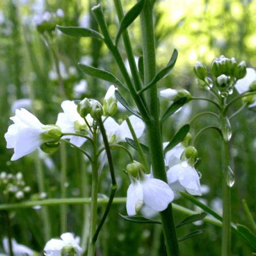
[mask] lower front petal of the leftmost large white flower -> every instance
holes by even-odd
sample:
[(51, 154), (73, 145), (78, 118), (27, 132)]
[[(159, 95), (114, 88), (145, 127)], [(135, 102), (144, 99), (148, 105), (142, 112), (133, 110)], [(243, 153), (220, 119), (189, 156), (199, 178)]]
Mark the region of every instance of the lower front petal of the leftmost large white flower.
[(17, 160), (24, 155), (30, 154), (42, 144), (40, 140), (40, 132), (33, 128), (24, 128), (16, 134), (16, 142), (14, 145), (14, 155), (11, 160)]

